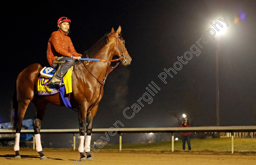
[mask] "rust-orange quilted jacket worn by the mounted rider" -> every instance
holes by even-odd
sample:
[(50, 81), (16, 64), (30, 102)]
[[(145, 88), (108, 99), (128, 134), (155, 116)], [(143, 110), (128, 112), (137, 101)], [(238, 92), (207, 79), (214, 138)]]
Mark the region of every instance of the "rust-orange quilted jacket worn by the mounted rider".
[(67, 36), (67, 33), (64, 33), (62, 30), (58, 30), (52, 33), (50, 39), (48, 40), (47, 47), (47, 60), (52, 66), (53, 60), (58, 57), (72, 57), (79, 56), (81, 54), (77, 53), (70, 37)]

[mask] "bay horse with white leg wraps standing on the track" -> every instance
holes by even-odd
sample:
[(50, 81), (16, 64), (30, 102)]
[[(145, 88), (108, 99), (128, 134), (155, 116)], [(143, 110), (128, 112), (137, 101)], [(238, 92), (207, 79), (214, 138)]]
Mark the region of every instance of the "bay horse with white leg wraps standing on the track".
[[(125, 41), (121, 37), (121, 26), (116, 31), (112, 28), (111, 32), (102, 37), (82, 58), (102, 59), (101, 61), (78, 61), (73, 66), (72, 72), (72, 93), (69, 93), (68, 99), (72, 107), (78, 110), (79, 135), (80, 142), (78, 151), (80, 152), (80, 161), (90, 160), (90, 142), (92, 133), (93, 119), (98, 110), (98, 103), (103, 96), (103, 86), (105, 79), (113, 68), (111, 61), (118, 61), (123, 65), (130, 65), (132, 58), (125, 48)], [(112, 58), (117, 58), (112, 60)], [(16, 81), (16, 90), (12, 100), (11, 122), (13, 131), (16, 132), (15, 138), (15, 157), (21, 159), (19, 150), (20, 130), (22, 121), (27, 110), (28, 104), (32, 102), (36, 109), (33, 128), (36, 141), (36, 150), (40, 159), (47, 159), (42, 151), (40, 129), (44, 118), (45, 109), (48, 103), (65, 106), (60, 94), (51, 96), (39, 96), (37, 92), (37, 83), (40, 77), (42, 66), (32, 64), (25, 68)], [(86, 138), (85, 138), (86, 134)], [(85, 139), (85, 143), (84, 143)], [(86, 153), (86, 156), (85, 154)]]

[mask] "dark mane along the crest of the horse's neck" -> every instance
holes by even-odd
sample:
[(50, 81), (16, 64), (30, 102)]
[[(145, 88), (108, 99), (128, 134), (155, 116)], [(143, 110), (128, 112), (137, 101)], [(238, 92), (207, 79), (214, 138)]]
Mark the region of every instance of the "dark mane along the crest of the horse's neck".
[[(106, 33), (98, 42), (96, 42), (89, 50), (84, 51), (82, 58), (93, 58), (106, 44), (108, 44), (108, 33)], [(81, 61), (77, 62), (80, 64)]]

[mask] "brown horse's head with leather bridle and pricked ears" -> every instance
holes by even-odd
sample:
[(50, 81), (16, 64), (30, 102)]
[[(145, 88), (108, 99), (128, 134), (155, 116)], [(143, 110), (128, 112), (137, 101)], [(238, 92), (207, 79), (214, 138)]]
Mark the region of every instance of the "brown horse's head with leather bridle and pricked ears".
[(114, 57), (116, 56), (117, 58), (122, 58), (122, 60), (120, 61), (121, 64), (130, 65), (132, 58), (128, 54), (127, 49), (125, 48), (125, 45), (124, 45), (125, 41), (121, 36), (121, 26), (119, 26), (116, 31), (114, 31), (114, 28), (112, 28), (110, 34), (113, 34), (113, 35), (109, 35), (109, 37), (115, 36), (116, 49), (115, 49)]

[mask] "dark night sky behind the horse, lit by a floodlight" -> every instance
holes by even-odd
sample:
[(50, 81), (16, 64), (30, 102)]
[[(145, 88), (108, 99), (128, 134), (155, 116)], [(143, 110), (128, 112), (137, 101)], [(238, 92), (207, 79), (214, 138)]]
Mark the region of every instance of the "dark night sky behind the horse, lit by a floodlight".
[[(255, 125), (252, 116), (256, 109), (254, 1), (63, 1), (58, 4), (5, 1), (2, 6), (5, 9), (1, 19), (0, 123), (10, 121), (17, 75), (31, 64), (48, 64), (48, 39), (57, 30), (57, 20), (66, 16), (71, 19), (69, 37), (78, 53), (83, 54), (112, 27), (117, 30), (120, 25), (132, 58), (131, 65), (119, 65), (108, 76), (93, 128), (109, 128), (118, 120), (124, 128), (178, 127), (180, 123), (174, 114), (183, 113), (188, 115), (192, 126), (215, 126), (217, 42), (220, 125)], [(229, 26), (219, 20), (224, 20), (223, 15)], [(217, 21), (223, 28), (216, 26), (219, 32), (215, 30), (213, 40), (206, 31), (213, 28), (210, 23)], [(187, 64), (178, 61), (177, 57), (182, 56), (185, 60), (184, 53), (197, 45), (203, 35), (209, 39), (202, 44), (200, 54), (193, 54)], [(176, 74), (170, 71), (173, 77), (167, 74), (165, 84), (158, 75), (164, 69), (174, 68), (177, 61), (182, 68)], [(151, 95), (151, 104), (144, 101), (144, 107), (133, 118), (125, 118), (124, 109), (129, 107), (126, 114), (131, 116), (131, 106), (148, 92), (146, 88), (152, 81), (160, 90)], [(34, 115), (34, 106), (30, 104), (24, 119)], [(42, 129), (54, 128), (79, 128), (77, 112), (49, 104)]]

